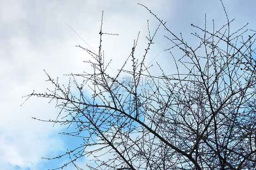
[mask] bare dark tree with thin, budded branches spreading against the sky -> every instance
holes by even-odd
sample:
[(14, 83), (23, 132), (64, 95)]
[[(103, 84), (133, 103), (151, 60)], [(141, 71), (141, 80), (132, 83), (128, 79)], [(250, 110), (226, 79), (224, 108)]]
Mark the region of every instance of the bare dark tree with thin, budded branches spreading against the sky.
[[(87, 165), (93, 170), (255, 170), (256, 32), (247, 25), (230, 32), (233, 20), (227, 15), (225, 25), (215, 28), (213, 21), (209, 30), (205, 16), (204, 28), (191, 24), (200, 32), (193, 33), (198, 44), (191, 45), (154, 17), (159, 27), (153, 34), (148, 29), (144, 55), (135, 57), (134, 40), (115, 77), (106, 71), (101, 25), (98, 53), (79, 46), (91, 56), (87, 63), (93, 73), (71, 74), (67, 86), (48, 75), (53, 89), (28, 95), (56, 100), (61, 111), (49, 121), (75, 126), (63, 134), (82, 139), (74, 150), (51, 159), (68, 156), (70, 161), (59, 168), (73, 164), (78, 170), (76, 160), (84, 156), (93, 157), (95, 166)], [(169, 57), (177, 70), (172, 75), (161, 65), (161, 75), (153, 75), (144, 64), (162, 28), (172, 43)], [(183, 55), (174, 56), (175, 50)], [(129, 80), (121, 79), (124, 73)]]

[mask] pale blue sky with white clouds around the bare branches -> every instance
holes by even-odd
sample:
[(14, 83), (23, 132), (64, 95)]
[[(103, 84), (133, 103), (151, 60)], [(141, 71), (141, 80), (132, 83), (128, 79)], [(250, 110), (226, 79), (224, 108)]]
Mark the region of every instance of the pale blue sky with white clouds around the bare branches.
[[(106, 60), (113, 59), (110, 74), (115, 73), (140, 31), (139, 45), (146, 43), (147, 20), (154, 30), (158, 22), (141, 3), (167, 22), (175, 34), (189, 35), (190, 24), (203, 26), (205, 14), (209, 25), (217, 26), (226, 18), (218, 0), (0, 0), (0, 167), (3, 170), (43, 170), (56, 168), (65, 160), (54, 157), (76, 144), (76, 139), (58, 135), (62, 127), (33, 120), (54, 119), (54, 103), (31, 98), (20, 106), (33, 90), (44, 92), (49, 86), (46, 70), (52, 77), (82, 73), (89, 69), (83, 60), (89, 55), (75, 47), (97, 51), (102, 10), (103, 32), (119, 34), (103, 37)], [(255, 0), (223, 0), (235, 29), (249, 22), (256, 30)], [(162, 62), (168, 67), (168, 41), (163, 28), (146, 62)], [(88, 46), (89, 45), (89, 46)], [(143, 48), (142, 48), (143, 50)], [(162, 51), (162, 52), (161, 52)], [(138, 56), (139, 57), (139, 56)], [(153, 61), (152, 61), (153, 60)], [(83, 161), (87, 161), (84, 159)], [(72, 167), (69, 167), (72, 169)]]

